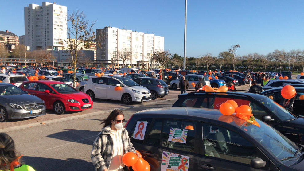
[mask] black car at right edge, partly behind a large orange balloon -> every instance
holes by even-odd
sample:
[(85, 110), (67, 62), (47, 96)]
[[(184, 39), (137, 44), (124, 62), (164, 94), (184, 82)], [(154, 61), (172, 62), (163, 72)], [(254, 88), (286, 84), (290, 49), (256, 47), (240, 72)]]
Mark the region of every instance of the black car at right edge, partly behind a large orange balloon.
[[(284, 99), (281, 95), (282, 88), (283, 87), (272, 88), (270, 90), (262, 91), (261, 94), (267, 97), (272, 96), (275, 102), (283, 104), (286, 99)], [(300, 100), (300, 95), (304, 95), (304, 87), (294, 87), (294, 89), (296, 90), (297, 95), (294, 99), (291, 99), (293, 103), (290, 104), (290, 106), (287, 106), (288, 110), (293, 114), (304, 115), (304, 112), (302, 111), (304, 107), (304, 100)]]

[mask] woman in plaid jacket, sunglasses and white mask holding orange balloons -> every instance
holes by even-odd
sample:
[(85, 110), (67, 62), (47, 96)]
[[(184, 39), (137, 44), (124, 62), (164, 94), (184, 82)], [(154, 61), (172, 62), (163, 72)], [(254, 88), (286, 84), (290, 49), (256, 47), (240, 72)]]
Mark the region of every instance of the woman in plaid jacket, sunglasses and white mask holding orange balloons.
[(133, 152), (137, 156), (127, 130), (123, 127), (123, 112), (115, 109), (101, 124), (103, 128), (97, 135), (92, 147), (91, 160), (97, 171), (123, 171), (128, 168), (123, 164), (123, 154)]

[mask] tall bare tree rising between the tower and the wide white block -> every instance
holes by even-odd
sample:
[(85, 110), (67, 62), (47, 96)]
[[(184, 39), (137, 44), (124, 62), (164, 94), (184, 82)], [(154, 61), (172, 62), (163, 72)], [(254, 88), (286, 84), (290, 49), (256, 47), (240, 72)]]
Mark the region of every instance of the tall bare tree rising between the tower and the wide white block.
[[(71, 54), (74, 67), (73, 87), (76, 87), (77, 52), (82, 49), (88, 49), (95, 41), (93, 26), (96, 21), (92, 21), (90, 24), (83, 11), (77, 10), (67, 15), (67, 22), (70, 22), (70, 26), (67, 29), (68, 39), (60, 40), (60, 45)], [(72, 39), (75, 39), (75, 42)]]

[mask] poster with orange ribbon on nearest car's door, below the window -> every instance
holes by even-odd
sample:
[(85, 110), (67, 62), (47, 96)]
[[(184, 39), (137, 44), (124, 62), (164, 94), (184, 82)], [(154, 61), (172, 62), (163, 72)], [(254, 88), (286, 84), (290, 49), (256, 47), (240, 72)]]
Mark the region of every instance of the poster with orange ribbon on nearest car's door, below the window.
[(189, 158), (188, 156), (163, 151), (161, 171), (188, 171)]

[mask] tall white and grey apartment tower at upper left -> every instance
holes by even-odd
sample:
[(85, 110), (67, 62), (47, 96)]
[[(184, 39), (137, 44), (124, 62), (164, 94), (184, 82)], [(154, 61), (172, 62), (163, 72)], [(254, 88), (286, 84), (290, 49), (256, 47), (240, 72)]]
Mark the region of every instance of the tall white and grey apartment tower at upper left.
[(55, 2), (24, 7), (25, 46), (30, 50), (61, 49), (60, 39), (67, 39), (67, 7)]

